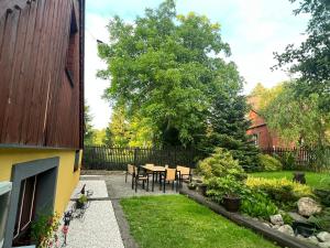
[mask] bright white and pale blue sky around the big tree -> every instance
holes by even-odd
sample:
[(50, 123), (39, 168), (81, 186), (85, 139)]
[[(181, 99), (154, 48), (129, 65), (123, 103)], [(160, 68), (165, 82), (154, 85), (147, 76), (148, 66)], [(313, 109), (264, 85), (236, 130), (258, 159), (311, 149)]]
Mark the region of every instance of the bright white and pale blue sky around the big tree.
[[(142, 15), (146, 7), (155, 8), (160, 0), (87, 0), (86, 10), (86, 55), (85, 98), (94, 116), (97, 129), (106, 128), (111, 116), (109, 104), (101, 99), (110, 85), (96, 77), (97, 69), (105, 68), (97, 55), (97, 42), (108, 41), (106, 25), (111, 17), (120, 15), (132, 21)], [(299, 44), (308, 18), (295, 17), (295, 6), (288, 0), (177, 0), (177, 12), (189, 11), (206, 14), (222, 26), (222, 39), (231, 46), (231, 61), (235, 62), (249, 93), (261, 82), (266, 87), (288, 79), (284, 72), (272, 72), (276, 64), (273, 52), (283, 51), (289, 43)]]

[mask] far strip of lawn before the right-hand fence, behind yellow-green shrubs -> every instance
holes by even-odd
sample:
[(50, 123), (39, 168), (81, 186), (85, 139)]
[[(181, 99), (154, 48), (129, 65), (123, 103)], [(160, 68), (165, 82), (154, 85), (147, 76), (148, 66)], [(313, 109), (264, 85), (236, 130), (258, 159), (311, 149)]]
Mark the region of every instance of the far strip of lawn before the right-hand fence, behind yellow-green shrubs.
[[(293, 180), (293, 171), (279, 171), (279, 172), (256, 172), (251, 173), (250, 176), (265, 177), (265, 179), (283, 179)], [(305, 172), (307, 185), (314, 188), (329, 188), (330, 186), (330, 173), (317, 173)]]

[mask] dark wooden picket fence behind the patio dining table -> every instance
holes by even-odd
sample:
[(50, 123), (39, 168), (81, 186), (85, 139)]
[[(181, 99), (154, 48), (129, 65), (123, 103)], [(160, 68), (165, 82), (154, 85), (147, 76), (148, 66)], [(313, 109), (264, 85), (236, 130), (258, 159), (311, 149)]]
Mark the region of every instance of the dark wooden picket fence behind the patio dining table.
[(125, 170), (129, 163), (158, 165), (178, 164), (195, 168), (194, 158), (196, 151), (191, 149), (147, 149), (147, 148), (110, 148), (110, 147), (85, 147), (82, 169), (85, 170)]

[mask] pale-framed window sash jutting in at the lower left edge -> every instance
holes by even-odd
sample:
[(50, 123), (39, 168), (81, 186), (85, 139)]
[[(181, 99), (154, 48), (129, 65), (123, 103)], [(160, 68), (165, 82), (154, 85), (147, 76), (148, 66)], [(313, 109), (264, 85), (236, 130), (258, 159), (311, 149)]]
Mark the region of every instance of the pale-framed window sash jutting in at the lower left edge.
[(0, 182), (0, 248), (3, 247), (11, 187), (10, 182)]

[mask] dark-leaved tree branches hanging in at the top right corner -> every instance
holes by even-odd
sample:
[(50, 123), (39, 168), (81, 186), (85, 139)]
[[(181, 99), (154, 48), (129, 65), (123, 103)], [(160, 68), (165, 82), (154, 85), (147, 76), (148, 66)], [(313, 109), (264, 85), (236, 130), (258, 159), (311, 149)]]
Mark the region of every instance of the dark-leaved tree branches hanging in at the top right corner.
[[(295, 2), (296, 0), (290, 0)], [(295, 93), (319, 95), (319, 106), (330, 110), (330, 1), (302, 0), (295, 14), (308, 13), (307, 39), (299, 46), (289, 44), (282, 54), (275, 53), (278, 67), (288, 67), (297, 76)]]

